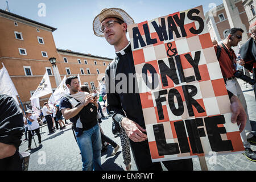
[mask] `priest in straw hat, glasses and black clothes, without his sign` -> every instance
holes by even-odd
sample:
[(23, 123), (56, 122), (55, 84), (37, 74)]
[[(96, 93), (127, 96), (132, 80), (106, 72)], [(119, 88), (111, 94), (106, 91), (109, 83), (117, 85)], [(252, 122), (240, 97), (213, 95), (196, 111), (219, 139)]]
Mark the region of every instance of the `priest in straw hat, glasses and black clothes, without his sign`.
[[(120, 92), (117, 90), (119, 83), (115, 80), (118, 73), (127, 76), (135, 73), (133, 54), (130, 42), (127, 40), (127, 25), (133, 24), (134, 20), (122, 9), (104, 9), (93, 20), (93, 31), (96, 36), (104, 36), (106, 41), (114, 46), (116, 57), (108, 65), (105, 72), (106, 91), (108, 96), (108, 109), (113, 119), (120, 123), (130, 138), (131, 150), (135, 163), (141, 170), (162, 170), (161, 164), (152, 163), (150, 149), (148, 147), (144, 118), (142, 113), (141, 98), (139, 97), (137, 79), (130, 80), (133, 85), (123, 85), (133, 88), (133, 93)], [(240, 130), (245, 127), (245, 111), (238, 99), (232, 101), (232, 111), (237, 123), (241, 122)], [(235, 122), (233, 121), (233, 122)], [(168, 170), (193, 170), (192, 159), (172, 160), (163, 162)]]

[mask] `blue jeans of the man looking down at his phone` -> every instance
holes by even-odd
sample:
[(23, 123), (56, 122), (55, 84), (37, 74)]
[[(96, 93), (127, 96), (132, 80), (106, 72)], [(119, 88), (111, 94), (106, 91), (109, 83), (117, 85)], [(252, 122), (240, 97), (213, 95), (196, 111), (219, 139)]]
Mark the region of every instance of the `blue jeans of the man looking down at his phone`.
[[(76, 132), (76, 135), (78, 132)], [(101, 132), (100, 127), (95, 125), (89, 130), (83, 131), (77, 137), (77, 143), (82, 156), (83, 171), (101, 171)]]

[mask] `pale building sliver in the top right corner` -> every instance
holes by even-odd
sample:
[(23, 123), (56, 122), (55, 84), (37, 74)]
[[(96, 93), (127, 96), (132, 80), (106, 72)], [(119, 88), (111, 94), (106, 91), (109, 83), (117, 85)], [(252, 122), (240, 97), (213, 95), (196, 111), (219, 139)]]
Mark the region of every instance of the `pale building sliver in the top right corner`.
[(243, 0), (243, 7), (248, 17), (249, 24), (253, 24), (256, 21), (256, 1), (255, 0)]

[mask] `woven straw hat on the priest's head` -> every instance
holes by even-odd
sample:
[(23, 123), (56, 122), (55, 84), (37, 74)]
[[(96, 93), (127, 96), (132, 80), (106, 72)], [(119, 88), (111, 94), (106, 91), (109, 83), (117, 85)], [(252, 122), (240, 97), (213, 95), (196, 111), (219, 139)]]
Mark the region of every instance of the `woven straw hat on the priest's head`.
[(93, 20), (93, 32), (96, 36), (104, 36), (102, 32), (100, 32), (101, 22), (106, 18), (119, 18), (123, 20), (123, 22), (127, 23), (127, 25), (134, 24), (133, 18), (129, 16), (125, 11), (118, 8), (109, 8), (101, 10), (101, 13), (98, 14)]

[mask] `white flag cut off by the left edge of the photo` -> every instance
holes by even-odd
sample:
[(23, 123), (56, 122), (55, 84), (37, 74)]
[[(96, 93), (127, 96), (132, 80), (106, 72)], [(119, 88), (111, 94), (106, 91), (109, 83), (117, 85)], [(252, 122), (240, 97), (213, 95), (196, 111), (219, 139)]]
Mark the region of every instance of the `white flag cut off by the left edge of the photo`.
[(19, 104), (16, 97), (18, 96), (18, 92), (13, 84), (13, 81), (11, 80), (9, 73), (7, 72), (7, 69), (5, 68), (5, 65), (3, 65), (3, 68), (0, 69), (0, 94), (7, 94), (8, 96), (13, 97), (14, 100)]

